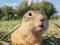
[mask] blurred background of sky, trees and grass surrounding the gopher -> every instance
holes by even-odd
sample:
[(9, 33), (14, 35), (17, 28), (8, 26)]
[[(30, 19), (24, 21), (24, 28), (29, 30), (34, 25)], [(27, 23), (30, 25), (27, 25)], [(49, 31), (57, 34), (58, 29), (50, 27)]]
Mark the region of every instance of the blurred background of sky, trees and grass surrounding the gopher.
[(7, 45), (13, 28), (28, 10), (43, 11), (49, 20), (43, 45), (60, 45), (60, 0), (0, 0), (0, 44)]

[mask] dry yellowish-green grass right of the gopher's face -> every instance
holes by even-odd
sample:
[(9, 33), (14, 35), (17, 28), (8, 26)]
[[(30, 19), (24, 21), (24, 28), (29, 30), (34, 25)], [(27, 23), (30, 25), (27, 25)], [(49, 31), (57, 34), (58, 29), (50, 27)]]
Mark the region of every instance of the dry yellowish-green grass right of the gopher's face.
[(56, 25), (55, 25), (55, 23), (56, 24), (58, 24), (59, 26), (60, 26), (60, 21), (57, 21), (57, 20), (50, 20), (49, 21), (49, 28), (48, 28), (48, 30), (47, 30), (47, 32), (46, 32), (46, 34), (48, 35), (48, 36), (52, 36), (52, 35), (60, 35), (60, 28), (58, 28)]

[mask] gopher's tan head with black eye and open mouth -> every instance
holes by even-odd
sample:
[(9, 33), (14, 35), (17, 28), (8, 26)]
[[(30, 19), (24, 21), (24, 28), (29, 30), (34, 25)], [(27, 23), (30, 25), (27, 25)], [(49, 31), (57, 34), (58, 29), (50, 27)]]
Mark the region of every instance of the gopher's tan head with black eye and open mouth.
[(33, 31), (46, 30), (48, 27), (45, 16), (39, 11), (26, 12), (22, 18), (22, 24), (25, 24), (25, 27), (34, 28)]

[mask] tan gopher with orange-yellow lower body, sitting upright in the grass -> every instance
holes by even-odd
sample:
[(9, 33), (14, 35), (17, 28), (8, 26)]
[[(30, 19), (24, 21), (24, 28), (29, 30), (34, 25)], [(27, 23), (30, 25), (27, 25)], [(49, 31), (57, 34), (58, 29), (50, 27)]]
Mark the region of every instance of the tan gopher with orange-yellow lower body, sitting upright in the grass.
[(42, 34), (47, 29), (45, 16), (39, 11), (27, 11), (19, 28), (11, 34), (13, 45), (42, 45)]

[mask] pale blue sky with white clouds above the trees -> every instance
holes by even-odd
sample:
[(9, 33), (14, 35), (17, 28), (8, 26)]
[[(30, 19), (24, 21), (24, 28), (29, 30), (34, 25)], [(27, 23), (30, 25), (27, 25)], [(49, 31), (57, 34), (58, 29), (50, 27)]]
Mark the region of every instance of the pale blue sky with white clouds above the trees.
[[(42, 0), (39, 0), (39, 1), (42, 1)], [(58, 14), (60, 14), (60, 0), (46, 0), (46, 1), (49, 1), (52, 4), (54, 4)], [(0, 7), (3, 5), (9, 5), (9, 6), (15, 7), (15, 6), (18, 6), (21, 2), (22, 0), (0, 0)]]

